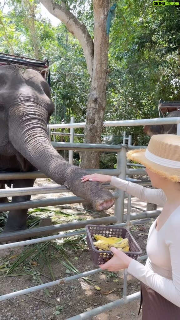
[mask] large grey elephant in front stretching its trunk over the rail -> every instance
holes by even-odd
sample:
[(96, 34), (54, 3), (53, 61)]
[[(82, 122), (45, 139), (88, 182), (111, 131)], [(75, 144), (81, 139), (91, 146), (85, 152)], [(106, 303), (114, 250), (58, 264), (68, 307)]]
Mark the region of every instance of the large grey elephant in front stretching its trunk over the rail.
[[(99, 182), (81, 183), (87, 172), (66, 162), (53, 148), (47, 130), (53, 110), (49, 85), (39, 72), (14, 65), (0, 67), (0, 172), (40, 170), (92, 203), (97, 211), (109, 209), (115, 201), (110, 191)], [(0, 188), (4, 183), (13, 188), (33, 187), (34, 181), (0, 181)], [(14, 196), (12, 201), (28, 201), (30, 197)], [(11, 210), (4, 232), (26, 229), (27, 211)]]

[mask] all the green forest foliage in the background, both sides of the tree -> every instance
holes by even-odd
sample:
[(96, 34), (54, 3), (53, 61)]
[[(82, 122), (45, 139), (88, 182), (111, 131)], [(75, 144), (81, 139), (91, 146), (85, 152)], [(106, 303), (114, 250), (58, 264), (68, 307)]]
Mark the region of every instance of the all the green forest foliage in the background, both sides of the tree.
[[(92, 1), (64, 2), (93, 37)], [(180, 100), (180, 10), (154, 7), (150, 0), (117, 4), (110, 32), (104, 120), (158, 117), (160, 98)], [(8, 0), (8, 5), (9, 12), (0, 12), (0, 52), (35, 58), (38, 51), (40, 59), (48, 57), (56, 104), (50, 122), (69, 122), (70, 116), (84, 122), (91, 79), (80, 44), (61, 22), (53, 27), (41, 16), (37, 0)], [(104, 128), (103, 135), (120, 137), (124, 130)], [(133, 135), (136, 145), (147, 145), (149, 138), (142, 126), (126, 128), (126, 132)], [(76, 133), (84, 132), (76, 129)]]

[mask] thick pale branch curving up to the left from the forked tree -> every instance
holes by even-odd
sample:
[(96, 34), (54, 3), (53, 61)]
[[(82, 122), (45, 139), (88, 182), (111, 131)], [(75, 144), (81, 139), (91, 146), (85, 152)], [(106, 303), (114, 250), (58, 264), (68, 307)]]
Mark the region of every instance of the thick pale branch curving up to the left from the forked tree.
[(40, 0), (40, 2), (53, 16), (61, 20), (66, 25), (68, 31), (78, 39), (83, 48), (89, 74), (92, 76), (94, 44), (86, 26), (67, 10), (63, 3), (62, 5), (56, 4), (54, 0)]

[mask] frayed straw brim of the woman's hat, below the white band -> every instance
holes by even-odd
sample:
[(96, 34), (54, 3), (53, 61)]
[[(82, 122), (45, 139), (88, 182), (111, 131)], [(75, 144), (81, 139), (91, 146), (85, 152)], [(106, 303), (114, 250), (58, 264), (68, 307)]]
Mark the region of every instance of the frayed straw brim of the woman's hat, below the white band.
[(180, 181), (180, 168), (169, 168), (156, 164), (145, 157), (145, 149), (130, 150), (127, 152), (127, 158), (143, 164), (150, 171), (157, 173), (160, 177), (171, 180), (172, 182)]

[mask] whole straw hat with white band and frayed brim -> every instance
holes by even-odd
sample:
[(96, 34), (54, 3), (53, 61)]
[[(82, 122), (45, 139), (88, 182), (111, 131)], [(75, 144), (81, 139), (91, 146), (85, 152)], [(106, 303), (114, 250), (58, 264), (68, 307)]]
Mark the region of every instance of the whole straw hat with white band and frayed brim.
[(180, 136), (156, 134), (147, 149), (131, 150), (127, 158), (173, 182), (180, 181)]

